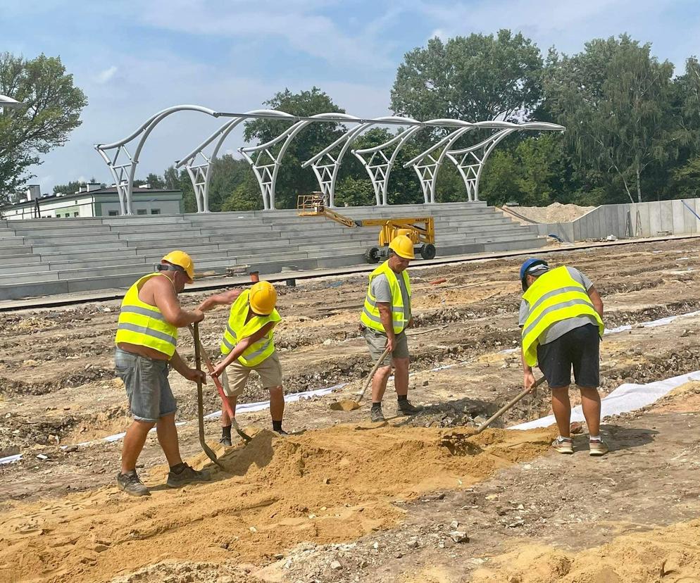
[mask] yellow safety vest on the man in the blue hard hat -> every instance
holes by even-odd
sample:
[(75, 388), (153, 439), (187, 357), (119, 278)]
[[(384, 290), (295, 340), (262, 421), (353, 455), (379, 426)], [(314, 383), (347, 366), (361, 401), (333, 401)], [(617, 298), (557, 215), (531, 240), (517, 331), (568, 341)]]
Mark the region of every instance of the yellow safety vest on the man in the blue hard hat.
[(537, 277), (523, 299), (530, 306), (522, 332), (525, 362), (530, 366), (537, 364), (539, 337), (555, 322), (589, 315), (595, 318), (599, 334), (603, 335), (603, 320), (585, 287), (571, 277), (565, 265)]

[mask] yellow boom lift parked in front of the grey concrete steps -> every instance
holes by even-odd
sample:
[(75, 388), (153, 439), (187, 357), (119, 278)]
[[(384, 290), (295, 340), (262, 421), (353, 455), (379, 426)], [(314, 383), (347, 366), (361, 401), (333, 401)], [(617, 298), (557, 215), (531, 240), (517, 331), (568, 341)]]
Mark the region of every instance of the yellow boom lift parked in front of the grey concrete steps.
[(414, 250), (423, 259), (435, 258), (435, 221), (432, 217), (407, 218), (373, 218), (353, 219), (341, 215), (325, 206), (323, 194), (312, 192), (300, 194), (296, 200), (296, 210), (300, 217), (326, 217), (340, 223), (344, 227), (381, 227), (379, 244), (365, 251), (368, 263), (378, 263), (389, 255), (389, 243), (400, 234), (405, 234), (413, 241)]

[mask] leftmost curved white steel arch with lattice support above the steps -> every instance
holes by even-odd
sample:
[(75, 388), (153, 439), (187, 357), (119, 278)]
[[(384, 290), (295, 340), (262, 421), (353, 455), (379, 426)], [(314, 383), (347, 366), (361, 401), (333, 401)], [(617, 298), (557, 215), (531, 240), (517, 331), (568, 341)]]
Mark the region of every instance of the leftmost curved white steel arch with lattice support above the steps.
[[(141, 151), (146, 143), (146, 139), (148, 139), (156, 125), (161, 123), (161, 121), (167, 118), (168, 115), (179, 111), (199, 111), (201, 113), (211, 115), (214, 118), (218, 117), (219, 115), (218, 112), (204, 106), (189, 104), (172, 106), (151, 115), (151, 117), (140, 125), (135, 132), (128, 135), (124, 139), (120, 139), (118, 142), (112, 142), (111, 144), (95, 144), (95, 149), (107, 164), (107, 167), (109, 168), (109, 171), (114, 179), (117, 194), (119, 196), (120, 212), (122, 215), (134, 214), (131, 204), (132, 192), (134, 188), (134, 176), (136, 173), (136, 167), (139, 164), (139, 156), (141, 156)], [(131, 156), (126, 144), (139, 136), (141, 137), (137, 142), (134, 156)], [(110, 157), (108, 155), (108, 150), (115, 150), (113, 156)], [(118, 163), (122, 154), (127, 158), (127, 161), (124, 163)]]

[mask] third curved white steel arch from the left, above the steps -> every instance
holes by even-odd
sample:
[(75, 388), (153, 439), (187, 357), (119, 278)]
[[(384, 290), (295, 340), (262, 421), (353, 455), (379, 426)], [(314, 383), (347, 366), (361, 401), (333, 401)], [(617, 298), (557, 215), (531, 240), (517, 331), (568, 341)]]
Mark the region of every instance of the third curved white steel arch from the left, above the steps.
[[(361, 121), (360, 118), (356, 118), (354, 115), (347, 115), (346, 113), (317, 113), (316, 115), (311, 115), (311, 118), (299, 120), (274, 139), (265, 142), (265, 144), (239, 148), (238, 151), (249, 161), (258, 179), (260, 191), (263, 195), (263, 208), (265, 208), (265, 210), (274, 210), (275, 208), (277, 173), (280, 170), (282, 158), (285, 157), (289, 144), (292, 143), (296, 134), (301, 132), (304, 127), (316, 121), (323, 121), (326, 118), (330, 118), (328, 121), (332, 123), (337, 123), (339, 119), (349, 122)], [(274, 146), (280, 143), (282, 144), (280, 151), (278, 151), (277, 154), (273, 153)]]

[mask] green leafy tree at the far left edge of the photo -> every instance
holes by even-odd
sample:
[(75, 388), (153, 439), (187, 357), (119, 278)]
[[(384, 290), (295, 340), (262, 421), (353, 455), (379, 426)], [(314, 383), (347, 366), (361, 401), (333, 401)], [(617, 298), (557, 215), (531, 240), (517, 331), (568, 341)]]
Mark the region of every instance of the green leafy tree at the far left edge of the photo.
[(87, 99), (61, 58), (44, 54), (32, 60), (0, 54), (0, 94), (23, 104), (0, 114), (0, 197), (6, 200), (30, 178), (25, 172), (40, 154), (65, 144)]

